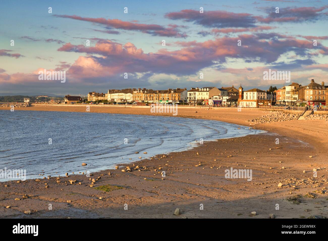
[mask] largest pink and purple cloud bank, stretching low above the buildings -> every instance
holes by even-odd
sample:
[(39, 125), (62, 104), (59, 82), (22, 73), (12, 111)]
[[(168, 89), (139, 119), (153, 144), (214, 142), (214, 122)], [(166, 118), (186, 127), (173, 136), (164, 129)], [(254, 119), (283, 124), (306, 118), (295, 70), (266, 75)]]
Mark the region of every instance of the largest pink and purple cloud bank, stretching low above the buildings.
[[(237, 46), (238, 40), (242, 41), (242, 46)], [(80, 56), (69, 69), (69, 73), (75, 78), (88, 78), (88, 76), (115, 76), (124, 72), (196, 74), (203, 68), (226, 63), (227, 58), (243, 60), (246, 63), (273, 63), (278, 67), (285, 64), (276, 63), (283, 54), (295, 52), (300, 56), (310, 56), (309, 53), (314, 48), (312, 41), (276, 33), (242, 34), (237, 37), (222, 37), (204, 42), (178, 41), (172, 45), (182, 48), (174, 51), (160, 49), (155, 53), (144, 53), (142, 49), (138, 49), (130, 42), (123, 45), (110, 40), (99, 40), (94, 46), (89, 47), (67, 43), (58, 51), (88, 54), (87, 57)], [(323, 46), (316, 48), (323, 53), (327, 51)], [(289, 68), (315, 63), (311, 59), (306, 61), (290, 62)]]

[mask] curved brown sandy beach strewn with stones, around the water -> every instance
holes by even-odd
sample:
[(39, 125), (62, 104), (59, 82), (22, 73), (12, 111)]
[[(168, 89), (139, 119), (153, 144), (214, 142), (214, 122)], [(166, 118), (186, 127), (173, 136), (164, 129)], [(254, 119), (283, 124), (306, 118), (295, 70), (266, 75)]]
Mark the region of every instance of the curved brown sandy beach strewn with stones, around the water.
[[(21, 110), (84, 112), (86, 107), (33, 105), (15, 108), (15, 111)], [(91, 106), (90, 112), (172, 116), (172, 113), (151, 113), (150, 108), (131, 107)], [(247, 120), (268, 113), (246, 108), (240, 112), (235, 108), (178, 108), (176, 116), (249, 126)], [(40, 181), (2, 182), (0, 216), (269, 218), (269, 214), (274, 214), (276, 218), (327, 217), (327, 121), (293, 120), (251, 125), (250, 128), (267, 133), (204, 142), (193, 150), (119, 164), (117, 170), (99, 171), (91, 177), (69, 173), (69, 177), (59, 180), (54, 176), (50, 179), (41, 176)], [(127, 166), (131, 171), (122, 172)], [(230, 168), (252, 169), (252, 181), (225, 178), (225, 170)], [(313, 176), (314, 168), (321, 169), (317, 177)], [(90, 187), (89, 178), (98, 179), (93, 187)], [(70, 184), (69, 180), (76, 181)], [(282, 187), (278, 187), (279, 183)], [(176, 208), (182, 210), (180, 215), (174, 215)], [(31, 214), (24, 214), (24, 211), (31, 211)], [(253, 211), (256, 215), (251, 214)]]

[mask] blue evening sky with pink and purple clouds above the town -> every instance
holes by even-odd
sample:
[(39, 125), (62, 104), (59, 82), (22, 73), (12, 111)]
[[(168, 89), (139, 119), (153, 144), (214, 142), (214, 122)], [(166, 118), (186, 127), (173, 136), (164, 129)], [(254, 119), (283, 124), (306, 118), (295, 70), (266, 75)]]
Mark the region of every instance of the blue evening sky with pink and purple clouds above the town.
[[(328, 84), (326, 0), (0, 5), (0, 92), (286, 85), (264, 80), (269, 69), (291, 71), (291, 82), (302, 85)], [(39, 80), (44, 69), (65, 71), (65, 83)]]

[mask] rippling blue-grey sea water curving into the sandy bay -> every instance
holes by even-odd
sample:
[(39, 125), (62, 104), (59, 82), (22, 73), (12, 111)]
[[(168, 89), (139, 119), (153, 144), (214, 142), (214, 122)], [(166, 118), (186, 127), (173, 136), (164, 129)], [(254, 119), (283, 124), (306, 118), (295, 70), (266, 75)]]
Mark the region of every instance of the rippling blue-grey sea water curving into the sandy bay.
[[(220, 121), (180, 117), (0, 110), (0, 170), (25, 169), (27, 178), (40, 177), (42, 170), (45, 176), (99, 171), (139, 160), (139, 156), (184, 151), (201, 140), (261, 132)], [(88, 165), (81, 166), (82, 162)]]

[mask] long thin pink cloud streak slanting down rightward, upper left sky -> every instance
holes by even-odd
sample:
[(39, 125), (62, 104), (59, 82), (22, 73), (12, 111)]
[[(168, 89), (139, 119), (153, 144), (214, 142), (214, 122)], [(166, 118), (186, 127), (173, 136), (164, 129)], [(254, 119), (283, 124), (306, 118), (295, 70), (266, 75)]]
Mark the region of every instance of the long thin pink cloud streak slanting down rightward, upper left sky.
[(166, 37), (176, 37), (176, 38), (187, 37), (187, 34), (180, 33), (177, 30), (177, 28), (173, 25), (169, 26), (168, 28), (165, 28), (157, 24), (139, 24), (136, 23), (136, 21), (128, 22), (119, 19), (87, 18), (87, 17), (76, 16), (76, 15), (56, 15), (56, 14), (54, 16), (60, 18), (70, 18), (80, 21), (97, 23), (113, 29), (141, 31), (143, 33), (148, 33), (153, 36), (166, 36)]

